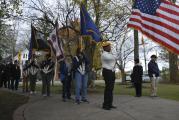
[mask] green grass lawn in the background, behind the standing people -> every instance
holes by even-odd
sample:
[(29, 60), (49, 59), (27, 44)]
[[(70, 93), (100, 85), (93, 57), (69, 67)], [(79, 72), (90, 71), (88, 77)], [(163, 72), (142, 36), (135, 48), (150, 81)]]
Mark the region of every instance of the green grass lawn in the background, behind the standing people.
[[(37, 86), (37, 90), (41, 91), (41, 85)], [(55, 85), (51, 87), (52, 93), (59, 94), (62, 91), (62, 87)], [(95, 88), (89, 88), (88, 94), (103, 94), (104, 84), (97, 84)], [(72, 90), (72, 93), (74, 90)], [(114, 88), (114, 94), (116, 95), (131, 95), (135, 96), (134, 88), (131, 88), (131, 84), (119, 85), (116, 84)], [(150, 96), (150, 84), (144, 83), (142, 88), (143, 96)], [(179, 101), (179, 85), (174, 84), (158, 84), (158, 96), (161, 98), (177, 100)]]

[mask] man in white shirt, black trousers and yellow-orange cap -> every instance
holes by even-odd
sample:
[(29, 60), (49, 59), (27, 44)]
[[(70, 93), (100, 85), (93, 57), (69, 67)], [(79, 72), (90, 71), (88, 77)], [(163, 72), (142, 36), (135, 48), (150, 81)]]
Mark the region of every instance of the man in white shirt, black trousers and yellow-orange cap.
[(113, 106), (113, 89), (115, 83), (115, 64), (116, 59), (111, 54), (111, 44), (109, 42), (103, 42), (103, 53), (101, 55), (102, 62), (102, 74), (105, 81), (105, 90), (104, 90), (104, 102), (103, 109), (110, 110), (116, 108)]

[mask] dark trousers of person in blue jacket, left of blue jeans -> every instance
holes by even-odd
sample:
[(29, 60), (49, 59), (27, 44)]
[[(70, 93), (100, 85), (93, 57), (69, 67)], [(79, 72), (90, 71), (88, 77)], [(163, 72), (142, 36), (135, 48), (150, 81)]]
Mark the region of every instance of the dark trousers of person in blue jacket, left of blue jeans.
[(71, 76), (67, 76), (63, 81), (63, 93), (62, 93), (62, 98), (63, 99), (70, 99), (71, 98)]

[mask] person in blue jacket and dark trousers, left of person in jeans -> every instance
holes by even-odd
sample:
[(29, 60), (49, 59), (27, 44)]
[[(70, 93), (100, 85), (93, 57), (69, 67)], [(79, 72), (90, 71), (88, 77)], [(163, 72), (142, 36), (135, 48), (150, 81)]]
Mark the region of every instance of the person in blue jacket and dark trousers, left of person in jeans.
[(72, 62), (70, 56), (66, 56), (60, 62), (60, 80), (63, 84), (62, 99), (66, 102), (66, 99), (71, 99)]

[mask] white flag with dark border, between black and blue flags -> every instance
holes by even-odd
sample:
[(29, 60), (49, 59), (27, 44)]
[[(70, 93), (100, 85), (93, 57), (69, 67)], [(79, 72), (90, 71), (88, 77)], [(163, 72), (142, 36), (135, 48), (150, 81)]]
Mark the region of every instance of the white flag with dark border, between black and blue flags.
[(50, 43), (53, 52), (55, 53), (55, 56), (57, 57), (58, 61), (61, 61), (64, 59), (64, 50), (62, 47), (62, 41), (59, 39), (58, 36), (58, 21), (55, 23), (55, 29), (52, 31), (48, 38), (48, 42)]

